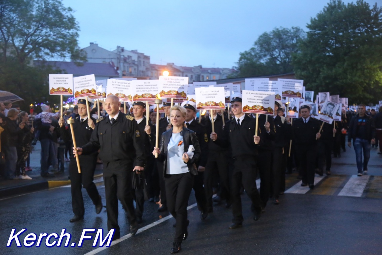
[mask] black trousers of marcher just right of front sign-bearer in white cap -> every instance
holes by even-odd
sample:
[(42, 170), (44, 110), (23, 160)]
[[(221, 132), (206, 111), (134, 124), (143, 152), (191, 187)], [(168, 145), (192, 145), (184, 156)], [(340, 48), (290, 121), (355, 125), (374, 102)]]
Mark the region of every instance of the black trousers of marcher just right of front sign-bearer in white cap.
[(260, 197), (263, 206), (267, 205), (270, 194), (270, 173), (271, 173), (272, 151), (260, 150), (257, 158), (257, 166), (260, 174)]

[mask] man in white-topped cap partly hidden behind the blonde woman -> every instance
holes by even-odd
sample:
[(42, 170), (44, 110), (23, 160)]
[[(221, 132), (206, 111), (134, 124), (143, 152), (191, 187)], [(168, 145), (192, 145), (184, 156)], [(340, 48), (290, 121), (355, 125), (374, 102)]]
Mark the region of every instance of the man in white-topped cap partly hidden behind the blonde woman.
[(182, 102), (181, 106), (185, 107), (187, 110), (186, 115), (186, 126), (188, 129), (195, 132), (197, 140), (199, 141), (200, 149), (202, 151), (202, 154), (200, 156), (200, 160), (197, 164), (197, 171), (198, 174), (194, 177), (194, 192), (195, 192), (195, 198), (197, 202), (197, 207), (200, 213), (200, 218), (205, 219), (208, 216), (208, 210), (207, 210), (207, 198), (206, 198), (206, 191), (204, 190), (203, 184), (204, 184), (204, 170), (206, 168), (207, 163), (207, 155), (208, 155), (208, 147), (207, 147), (207, 132), (206, 128), (199, 124), (196, 120), (196, 104), (193, 101), (184, 101)]

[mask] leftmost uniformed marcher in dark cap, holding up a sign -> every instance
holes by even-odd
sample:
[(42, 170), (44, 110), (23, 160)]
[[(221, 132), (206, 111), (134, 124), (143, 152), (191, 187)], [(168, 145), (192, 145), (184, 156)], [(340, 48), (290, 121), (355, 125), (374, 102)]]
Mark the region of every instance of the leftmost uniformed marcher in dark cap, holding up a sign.
[[(90, 103), (89, 103), (90, 106)], [(85, 99), (78, 100), (78, 114), (73, 123), (74, 137), (76, 137), (76, 144), (78, 146), (86, 145), (90, 141), (90, 137), (95, 128), (95, 119), (87, 118), (87, 106)], [(65, 129), (65, 123), (62, 117), (58, 121), (60, 125), (60, 133), (62, 139), (67, 142), (71, 142), (73, 147), (73, 141), (71, 137), (70, 127)], [(78, 173), (76, 159), (72, 156), (70, 157), (69, 163), (69, 176), (71, 183), (71, 197), (72, 197), (72, 209), (74, 217), (70, 219), (70, 222), (75, 222), (84, 219), (85, 208), (84, 200), (82, 197), (81, 188), (84, 186), (89, 197), (95, 205), (95, 212), (98, 214), (102, 210), (102, 200), (98, 193), (97, 187), (93, 182), (95, 164), (97, 162), (97, 154), (92, 153), (89, 155), (79, 156), (79, 164), (81, 167), (81, 174)]]

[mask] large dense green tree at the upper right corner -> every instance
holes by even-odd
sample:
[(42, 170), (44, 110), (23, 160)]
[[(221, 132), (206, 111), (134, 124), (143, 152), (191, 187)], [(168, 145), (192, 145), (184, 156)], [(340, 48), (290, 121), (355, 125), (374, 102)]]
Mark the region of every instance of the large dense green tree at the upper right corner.
[(307, 89), (353, 103), (382, 99), (382, 8), (331, 0), (307, 28), (293, 56), (296, 76)]

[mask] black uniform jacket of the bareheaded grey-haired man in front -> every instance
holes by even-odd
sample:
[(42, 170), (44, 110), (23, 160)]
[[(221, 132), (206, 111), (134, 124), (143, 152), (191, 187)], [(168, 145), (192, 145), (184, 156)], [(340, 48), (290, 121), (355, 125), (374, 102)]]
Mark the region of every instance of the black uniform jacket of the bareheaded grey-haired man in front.
[(99, 157), (104, 162), (129, 161), (135, 166), (144, 167), (144, 134), (141, 134), (136, 120), (122, 112), (113, 125), (109, 116), (102, 117), (91, 135), (89, 143), (82, 147), (83, 154), (100, 149)]

